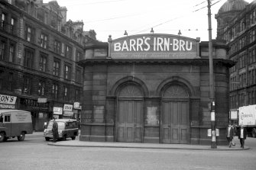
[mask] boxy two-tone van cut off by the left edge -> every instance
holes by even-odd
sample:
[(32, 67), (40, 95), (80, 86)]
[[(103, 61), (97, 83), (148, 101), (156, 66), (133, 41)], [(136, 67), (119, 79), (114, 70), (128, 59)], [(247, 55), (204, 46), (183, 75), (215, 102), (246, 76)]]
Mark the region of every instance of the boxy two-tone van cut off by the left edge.
[(32, 133), (31, 112), (12, 109), (0, 110), (0, 142), (15, 136), (22, 141), (26, 134)]

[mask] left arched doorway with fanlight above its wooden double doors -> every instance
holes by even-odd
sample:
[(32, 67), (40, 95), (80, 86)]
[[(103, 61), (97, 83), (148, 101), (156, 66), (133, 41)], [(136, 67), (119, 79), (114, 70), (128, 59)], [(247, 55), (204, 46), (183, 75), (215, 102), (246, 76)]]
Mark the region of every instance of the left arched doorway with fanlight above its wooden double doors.
[(117, 141), (142, 142), (143, 92), (138, 85), (127, 84), (118, 93)]

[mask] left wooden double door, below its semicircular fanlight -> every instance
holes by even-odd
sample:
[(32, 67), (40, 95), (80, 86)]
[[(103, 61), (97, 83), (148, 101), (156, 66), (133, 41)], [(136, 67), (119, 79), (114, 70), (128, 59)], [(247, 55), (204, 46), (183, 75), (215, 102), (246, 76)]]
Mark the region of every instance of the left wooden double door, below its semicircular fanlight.
[(118, 101), (118, 142), (142, 141), (142, 104), (142, 101)]

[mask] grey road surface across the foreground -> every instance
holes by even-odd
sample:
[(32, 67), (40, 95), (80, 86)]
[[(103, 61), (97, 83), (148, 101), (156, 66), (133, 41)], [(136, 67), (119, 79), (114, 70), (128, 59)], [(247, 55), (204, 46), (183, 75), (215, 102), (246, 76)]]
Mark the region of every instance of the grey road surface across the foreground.
[(256, 169), (256, 138), (248, 150), (205, 151), (49, 146), (41, 134), (0, 143), (0, 169)]

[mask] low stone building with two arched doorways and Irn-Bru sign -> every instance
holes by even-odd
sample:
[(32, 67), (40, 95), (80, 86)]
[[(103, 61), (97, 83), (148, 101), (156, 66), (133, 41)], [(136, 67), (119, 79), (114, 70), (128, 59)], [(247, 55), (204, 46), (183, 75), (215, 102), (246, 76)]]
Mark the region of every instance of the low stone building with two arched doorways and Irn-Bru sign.
[[(217, 143), (226, 143), (229, 69), (225, 43), (213, 41)], [(83, 141), (208, 145), (209, 43), (139, 34), (91, 43), (84, 69)]]

